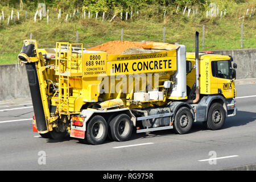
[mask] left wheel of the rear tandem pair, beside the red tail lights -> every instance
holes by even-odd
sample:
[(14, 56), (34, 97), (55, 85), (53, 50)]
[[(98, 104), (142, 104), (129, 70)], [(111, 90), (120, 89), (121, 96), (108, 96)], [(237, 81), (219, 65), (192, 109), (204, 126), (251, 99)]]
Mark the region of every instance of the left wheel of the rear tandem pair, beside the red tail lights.
[(108, 135), (108, 125), (104, 117), (94, 116), (88, 123), (85, 140), (89, 144), (102, 144)]

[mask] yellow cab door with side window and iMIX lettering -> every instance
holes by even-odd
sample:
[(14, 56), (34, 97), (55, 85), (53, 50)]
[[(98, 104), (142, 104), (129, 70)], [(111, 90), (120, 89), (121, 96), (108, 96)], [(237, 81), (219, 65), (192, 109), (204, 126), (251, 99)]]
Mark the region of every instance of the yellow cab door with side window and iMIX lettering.
[(222, 94), (225, 98), (233, 98), (234, 81), (231, 61), (212, 61), (212, 74), (214, 81), (217, 82), (218, 94)]

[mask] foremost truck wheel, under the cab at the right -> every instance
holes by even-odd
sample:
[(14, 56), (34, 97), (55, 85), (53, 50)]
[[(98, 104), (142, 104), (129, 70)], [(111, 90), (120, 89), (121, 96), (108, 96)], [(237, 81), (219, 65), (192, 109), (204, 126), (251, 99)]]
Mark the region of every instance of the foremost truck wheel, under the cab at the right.
[(213, 103), (210, 106), (207, 116), (207, 128), (210, 130), (218, 130), (224, 125), (226, 119), (226, 111), (220, 103)]

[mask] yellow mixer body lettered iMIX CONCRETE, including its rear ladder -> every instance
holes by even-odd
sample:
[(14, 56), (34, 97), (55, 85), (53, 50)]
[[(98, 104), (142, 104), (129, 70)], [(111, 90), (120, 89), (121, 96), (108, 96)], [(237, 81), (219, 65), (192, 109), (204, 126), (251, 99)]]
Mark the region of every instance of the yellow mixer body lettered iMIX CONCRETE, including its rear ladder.
[[(80, 113), (84, 105), (89, 108), (96, 102), (120, 99), (123, 107), (139, 108), (150, 106), (161, 106), (170, 100), (184, 100), (187, 97), (171, 97), (166, 92), (164, 100), (150, 100), (145, 102), (133, 102), (133, 93), (141, 90), (147, 91), (146, 82), (151, 79), (152, 89), (163, 88), (163, 82), (170, 80), (176, 72), (176, 49), (177, 45), (168, 43), (150, 43), (150, 48), (166, 50), (152, 53), (141, 53), (132, 55), (107, 55), (101, 51), (71, 51), (77, 44), (56, 43), (55, 59), (48, 60), (54, 69), (47, 69), (42, 80), (52, 80), (59, 86), (59, 96), (47, 93), (51, 105), (56, 106), (55, 113), (71, 114)], [(67, 47), (65, 49), (61, 47)], [(48, 54), (50, 49), (39, 49), (43, 55)], [(44, 59), (42, 59), (44, 60)], [(44, 60), (46, 61), (46, 60)], [(43, 69), (43, 68), (40, 68)], [(148, 75), (148, 74), (151, 75)], [(157, 73), (157, 74), (156, 74)], [(131, 75), (146, 75), (142, 77), (131, 77)], [(113, 80), (113, 77), (115, 79)], [(124, 82), (126, 79), (127, 82)], [(148, 80), (147, 80), (148, 79)], [(108, 82), (104, 82), (108, 81)], [(130, 81), (130, 82), (129, 82)], [(106, 84), (108, 83), (108, 84)], [(148, 82), (147, 82), (148, 83)], [(48, 88), (50, 82), (45, 83)], [(105, 84), (105, 85), (104, 85)], [(109, 88), (109, 93), (102, 89)], [(118, 89), (118, 92), (117, 92)], [(126, 92), (125, 92), (126, 89)]]

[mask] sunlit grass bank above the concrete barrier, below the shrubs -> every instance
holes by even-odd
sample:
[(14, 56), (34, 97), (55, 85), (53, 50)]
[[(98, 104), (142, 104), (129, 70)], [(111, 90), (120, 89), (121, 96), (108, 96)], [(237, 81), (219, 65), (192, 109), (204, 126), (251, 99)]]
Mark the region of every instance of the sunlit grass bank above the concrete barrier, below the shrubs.
[[(76, 42), (76, 31), (79, 31), (79, 42), (90, 48), (112, 40), (120, 40), (123, 28), (123, 40), (141, 42), (142, 40), (162, 42), (163, 26), (166, 27), (166, 42), (184, 44), (187, 51), (195, 50), (195, 32), (200, 33), (200, 51), (203, 51), (203, 24), (205, 25), (205, 49), (238, 49), (241, 48), (241, 23), (243, 23), (243, 48), (256, 48), (256, 12), (251, 17), (238, 19), (247, 8), (254, 8), (256, 1), (240, 3), (230, 7), (226, 16), (205, 18), (201, 13), (195, 17), (172, 14), (163, 19), (162, 15), (149, 18), (120, 21), (119, 16), (112, 23), (101, 19), (80, 19), (65, 22), (46, 18), (34, 23), (33, 15), (26, 21), (15, 24), (0, 24), (0, 64), (17, 63), (16, 56), (22, 48), (23, 40), (30, 37), (38, 41), (39, 48), (55, 47), (56, 42)], [(23, 12), (24, 13), (24, 12)], [(20, 16), (22, 17), (22, 12)], [(56, 16), (56, 14), (55, 14)], [(53, 15), (50, 14), (50, 17)]]

